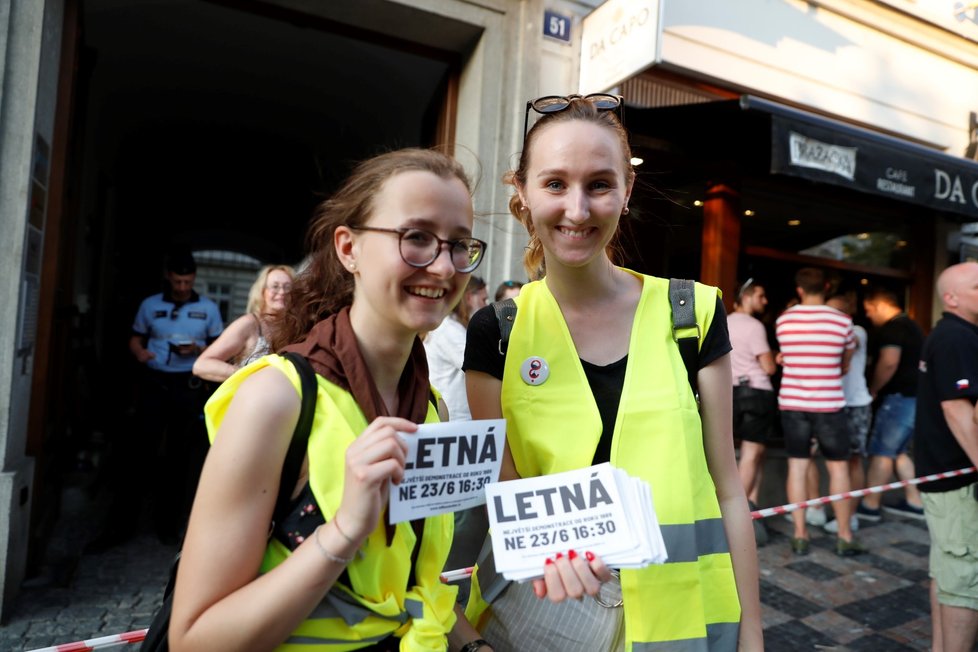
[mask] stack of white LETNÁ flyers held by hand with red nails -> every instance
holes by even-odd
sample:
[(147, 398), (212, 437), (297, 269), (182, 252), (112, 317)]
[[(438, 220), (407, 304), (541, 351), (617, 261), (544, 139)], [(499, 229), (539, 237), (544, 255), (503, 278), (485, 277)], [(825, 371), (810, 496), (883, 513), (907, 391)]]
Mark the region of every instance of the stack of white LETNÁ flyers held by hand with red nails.
[(486, 487), (496, 570), (509, 580), (543, 576), (548, 557), (593, 552), (614, 568), (666, 560), (648, 483), (611, 464)]

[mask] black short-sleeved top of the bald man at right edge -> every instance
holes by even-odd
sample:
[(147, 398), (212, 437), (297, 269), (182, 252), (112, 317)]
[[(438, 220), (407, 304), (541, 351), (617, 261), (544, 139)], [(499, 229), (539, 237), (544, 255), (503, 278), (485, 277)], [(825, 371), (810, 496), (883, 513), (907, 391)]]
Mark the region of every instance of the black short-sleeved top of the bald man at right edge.
[[(947, 426), (941, 401), (978, 400), (978, 327), (944, 313), (927, 341), (920, 361), (914, 464), (918, 475), (955, 471), (971, 460)], [(975, 481), (973, 474), (918, 485), (921, 491), (951, 491)]]

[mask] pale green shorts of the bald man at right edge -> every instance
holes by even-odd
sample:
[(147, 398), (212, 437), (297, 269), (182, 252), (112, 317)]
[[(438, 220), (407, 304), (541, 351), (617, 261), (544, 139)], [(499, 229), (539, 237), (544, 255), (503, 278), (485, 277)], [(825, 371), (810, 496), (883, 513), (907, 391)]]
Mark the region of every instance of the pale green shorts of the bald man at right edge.
[(978, 609), (978, 500), (974, 484), (920, 492), (930, 531), (930, 576), (937, 601)]

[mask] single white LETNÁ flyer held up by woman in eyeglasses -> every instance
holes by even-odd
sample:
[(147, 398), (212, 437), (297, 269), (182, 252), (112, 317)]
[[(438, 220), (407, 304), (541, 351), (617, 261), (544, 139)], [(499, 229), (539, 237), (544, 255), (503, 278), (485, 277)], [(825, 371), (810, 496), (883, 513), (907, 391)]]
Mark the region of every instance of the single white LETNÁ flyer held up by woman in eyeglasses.
[(390, 487), (392, 524), (485, 504), (485, 487), (499, 479), (505, 419), (427, 423), (400, 435), (408, 453), (404, 478)]

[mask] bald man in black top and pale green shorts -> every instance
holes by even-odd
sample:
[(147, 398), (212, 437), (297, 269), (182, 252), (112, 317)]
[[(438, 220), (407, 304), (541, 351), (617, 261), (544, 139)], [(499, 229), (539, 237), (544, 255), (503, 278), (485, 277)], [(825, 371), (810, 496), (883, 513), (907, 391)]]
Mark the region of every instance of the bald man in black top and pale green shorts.
[[(924, 342), (917, 388), (917, 473), (978, 464), (978, 263), (937, 279), (944, 314)], [(930, 531), (934, 652), (970, 652), (978, 637), (978, 482), (963, 475), (920, 485)]]

